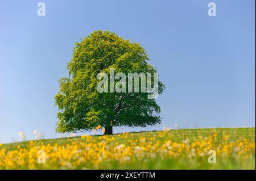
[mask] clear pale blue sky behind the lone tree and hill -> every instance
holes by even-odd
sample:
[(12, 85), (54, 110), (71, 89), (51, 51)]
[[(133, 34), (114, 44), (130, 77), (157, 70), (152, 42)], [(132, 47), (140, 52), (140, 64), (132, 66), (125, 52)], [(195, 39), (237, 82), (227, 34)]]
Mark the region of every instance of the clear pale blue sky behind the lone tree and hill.
[(55, 133), (54, 96), (76, 41), (108, 30), (141, 43), (166, 85), (162, 124), (255, 127), (255, 1), (0, 0), (0, 142)]

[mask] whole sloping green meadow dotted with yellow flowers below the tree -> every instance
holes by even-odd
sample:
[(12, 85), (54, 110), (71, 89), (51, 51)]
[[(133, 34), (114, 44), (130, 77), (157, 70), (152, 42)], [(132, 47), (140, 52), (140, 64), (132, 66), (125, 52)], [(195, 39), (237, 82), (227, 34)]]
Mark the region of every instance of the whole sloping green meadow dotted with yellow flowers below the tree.
[[(210, 150), (216, 153), (216, 163), (209, 163)], [(173, 129), (0, 144), (0, 169), (255, 169), (255, 128)]]

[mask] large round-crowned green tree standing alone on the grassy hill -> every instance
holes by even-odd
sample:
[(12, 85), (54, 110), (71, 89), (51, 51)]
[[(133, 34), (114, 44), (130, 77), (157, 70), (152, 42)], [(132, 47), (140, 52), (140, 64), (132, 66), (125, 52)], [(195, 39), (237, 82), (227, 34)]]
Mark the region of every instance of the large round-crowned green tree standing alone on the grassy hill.
[[(148, 99), (150, 92), (141, 92), (141, 88), (139, 92), (97, 91), (101, 81), (97, 79), (98, 73), (109, 75), (110, 68), (126, 75), (156, 73), (148, 60), (140, 44), (124, 40), (113, 32), (94, 31), (76, 43), (67, 66), (69, 77), (59, 80), (60, 90), (55, 95), (59, 108), (56, 132), (92, 131), (101, 125), (104, 134), (113, 134), (113, 127), (159, 124), (160, 107), (155, 99)], [(141, 81), (139, 83), (141, 85)], [(163, 89), (163, 83), (158, 82), (158, 94), (162, 94)]]

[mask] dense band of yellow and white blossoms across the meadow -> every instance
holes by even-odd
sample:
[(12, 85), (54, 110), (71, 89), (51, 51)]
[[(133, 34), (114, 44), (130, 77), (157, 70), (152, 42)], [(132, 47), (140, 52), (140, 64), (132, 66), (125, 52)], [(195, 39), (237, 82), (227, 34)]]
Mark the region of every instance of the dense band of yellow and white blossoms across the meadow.
[[(254, 158), (255, 163), (255, 140), (250, 138), (234, 140), (233, 137), (228, 136), (230, 134), (217, 140), (213, 139), (214, 134), (217, 136), (217, 133), (213, 132), (209, 137), (197, 135), (189, 139), (172, 138), (172, 140), (173, 133), (163, 131), (147, 136), (141, 133), (99, 137), (82, 135), (75, 141), (74, 139), (65, 142), (30, 141), (28, 144), (14, 145), (12, 149), (2, 148), (0, 144), (0, 169), (42, 169), (38, 167), (37, 159), (34, 159), (39, 156), (38, 150), (46, 153), (47, 162), (43, 165), (43, 169), (96, 169), (106, 161), (109, 164), (119, 162), (122, 166), (136, 165), (138, 161), (143, 161), (142, 166), (144, 166), (148, 161), (160, 164), (168, 159), (177, 162), (185, 159), (188, 163), (196, 161), (196, 164), (204, 164), (197, 162), (198, 158), (201, 157), (201, 161), (207, 160), (209, 150), (216, 150), (216, 156), (222, 161), (236, 159), (240, 162), (245, 158)], [(24, 134), (21, 133), (20, 136)], [(70, 136), (74, 137), (75, 133)], [(230, 141), (222, 141), (228, 137)]]

